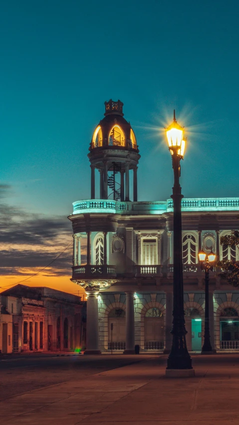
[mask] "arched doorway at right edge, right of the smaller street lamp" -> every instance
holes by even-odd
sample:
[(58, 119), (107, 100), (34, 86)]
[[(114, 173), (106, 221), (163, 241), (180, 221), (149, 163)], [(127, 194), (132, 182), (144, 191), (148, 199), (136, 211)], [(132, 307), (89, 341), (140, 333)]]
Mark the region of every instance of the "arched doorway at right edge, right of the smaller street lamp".
[(227, 307), (220, 315), (220, 348), (239, 349), (239, 318), (235, 308)]

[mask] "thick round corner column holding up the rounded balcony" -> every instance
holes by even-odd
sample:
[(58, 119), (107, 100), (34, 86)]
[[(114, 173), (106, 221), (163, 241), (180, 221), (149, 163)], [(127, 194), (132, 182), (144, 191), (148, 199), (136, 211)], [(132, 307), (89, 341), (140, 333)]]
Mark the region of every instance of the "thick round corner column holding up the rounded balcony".
[(84, 354), (101, 354), (99, 350), (98, 292), (86, 292), (86, 294), (87, 324)]

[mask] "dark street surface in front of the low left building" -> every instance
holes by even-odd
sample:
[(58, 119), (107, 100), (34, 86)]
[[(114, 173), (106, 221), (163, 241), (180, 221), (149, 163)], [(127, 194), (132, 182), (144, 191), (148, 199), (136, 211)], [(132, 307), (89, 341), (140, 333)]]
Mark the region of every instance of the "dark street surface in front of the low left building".
[[(140, 356), (142, 357), (142, 356)], [(115, 369), (139, 361), (137, 356), (60, 354), (12, 355), (0, 358), (0, 401), (26, 391)]]

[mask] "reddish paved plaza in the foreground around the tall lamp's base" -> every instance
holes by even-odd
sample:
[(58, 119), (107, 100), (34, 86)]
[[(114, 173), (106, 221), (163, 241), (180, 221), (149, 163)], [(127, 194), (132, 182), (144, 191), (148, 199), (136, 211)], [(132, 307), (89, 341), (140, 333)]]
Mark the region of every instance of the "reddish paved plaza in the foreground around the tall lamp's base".
[(193, 356), (191, 378), (166, 378), (165, 355), (125, 357), (131, 364), (1, 401), (0, 424), (239, 424), (239, 354)]

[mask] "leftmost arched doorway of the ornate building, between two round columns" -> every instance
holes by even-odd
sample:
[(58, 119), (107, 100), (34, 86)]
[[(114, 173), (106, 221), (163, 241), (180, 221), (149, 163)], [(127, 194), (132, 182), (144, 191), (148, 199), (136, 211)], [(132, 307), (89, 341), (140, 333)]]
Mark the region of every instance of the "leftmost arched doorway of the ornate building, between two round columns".
[[(113, 329), (111, 330), (111, 324)], [(112, 344), (111, 344), (112, 336)], [(125, 350), (125, 311), (114, 308), (108, 316), (108, 350)]]

